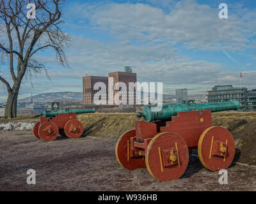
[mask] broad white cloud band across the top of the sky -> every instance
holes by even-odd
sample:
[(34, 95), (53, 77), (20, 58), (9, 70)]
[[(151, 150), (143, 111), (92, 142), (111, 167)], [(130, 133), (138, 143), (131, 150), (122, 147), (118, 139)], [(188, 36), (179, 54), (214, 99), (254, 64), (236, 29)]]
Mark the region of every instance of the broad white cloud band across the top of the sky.
[(242, 16), (230, 13), (228, 19), (220, 19), (217, 6), (212, 8), (194, 0), (179, 1), (168, 14), (142, 3), (97, 4), (90, 7), (90, 12), (86, 4), (83, 6), (79, 15), (83, 13), (95, 29), (119, 41), (182, 43), (186, 48), (200, 50), (241, 50), (249, 44), (255, 47), (250, 37), (255, 34), (252, 25), (256, 14), (250, 11)]

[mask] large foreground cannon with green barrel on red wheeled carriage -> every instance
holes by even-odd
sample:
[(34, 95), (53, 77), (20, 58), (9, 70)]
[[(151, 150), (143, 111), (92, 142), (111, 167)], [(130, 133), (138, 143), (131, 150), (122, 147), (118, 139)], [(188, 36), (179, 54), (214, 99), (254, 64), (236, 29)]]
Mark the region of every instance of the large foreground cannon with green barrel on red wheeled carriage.
[(182, 101), (164, 105), (159, 112), (145, 106), (135, 129), (120, 136), (115, 154), (127, 170), (147, 167), (157, 180), (179, 179), (186, 170), (189, 154), (197, 149), (205, 168), (228, 168), (234, 159), (235, 144), (227, 129), (212, 126), (211, 112), (239, 110), (238, 101), (194, 103)]

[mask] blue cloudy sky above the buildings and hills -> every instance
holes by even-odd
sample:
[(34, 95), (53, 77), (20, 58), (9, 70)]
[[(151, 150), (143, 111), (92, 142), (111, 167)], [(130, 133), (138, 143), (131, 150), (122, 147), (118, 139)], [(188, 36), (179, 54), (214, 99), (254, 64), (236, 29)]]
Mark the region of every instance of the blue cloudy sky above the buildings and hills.
[[(220, 19), (219, 4), (228, 6)], [(139, 82), (163, 82), (164, 93), (187, 87), (205, 94), (214, 85), (256, 88), (256, 1), (67, 1), (63, 31), (71, 69), (60, 68), (49, 50), (40, 53), (51, 67), (24, 80), (19, 98), (31, 92), (82, 92), (82, 77), (107, 76), (131, 66)], [(4, 68), (1, 73), (8, 74)], [(0, 101), (7, 92), (0, 89)]]

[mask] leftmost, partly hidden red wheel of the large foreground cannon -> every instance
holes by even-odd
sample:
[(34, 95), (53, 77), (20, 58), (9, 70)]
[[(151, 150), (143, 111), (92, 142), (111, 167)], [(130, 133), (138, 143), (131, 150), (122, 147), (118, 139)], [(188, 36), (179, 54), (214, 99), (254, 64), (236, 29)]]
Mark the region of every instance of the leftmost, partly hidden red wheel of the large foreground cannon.
[(135, 136), (135, 129), (129, 130), (120, 136), (116, 143), (115, 153), (118, 163), (127, 170), (135, 170), (137, 168), (145, 168), (145, 160), (143, 157), (130, 158), (131, 141), (130, 138)]

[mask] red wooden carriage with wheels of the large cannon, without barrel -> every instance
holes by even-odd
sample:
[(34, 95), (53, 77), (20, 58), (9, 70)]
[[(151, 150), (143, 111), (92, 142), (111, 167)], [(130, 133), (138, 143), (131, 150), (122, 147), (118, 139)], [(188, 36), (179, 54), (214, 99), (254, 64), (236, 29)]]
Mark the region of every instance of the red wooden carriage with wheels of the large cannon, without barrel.
[[(225, 128), (212, 128), (211, 110), (202, 110), (201, 113), (178, 112), (177, 116), (172, 117), (172, 121), (136, 121), (135, 127), (136, 130), (128, 131), (116, 143), (116, 157), (128, 170), (143, 168), (146, 164), (149, 173), (161, 181), (179, 179), (183, 175), (188, 166), (189, 154), (192, 154), (198, 142), (202, 142), (198, 146), (198, 156), (205, 168), (212, 171), (225, 169), (230, 166), (234, 158), (235, 146), (232, 135)], [(202, 135), (204, 137), (201, 140)], [(212, 136), (214, 141), (211, 152)], [(228, 140), (227, 145), (226, 140)], [(130, 145), (129, 159), (127, 159), (127, 142)], [(220, 152), (220, 143), (227, 148), (225, 159)], [(159, 156), (159, 148), (161, 156)], [(211, 158), (209, 158), (210, 152)], [(171, 154), (179, 156), (180, 166), (177, 160), (172, 161)], [(145, 161), (142, 157), (144, 155)]]

